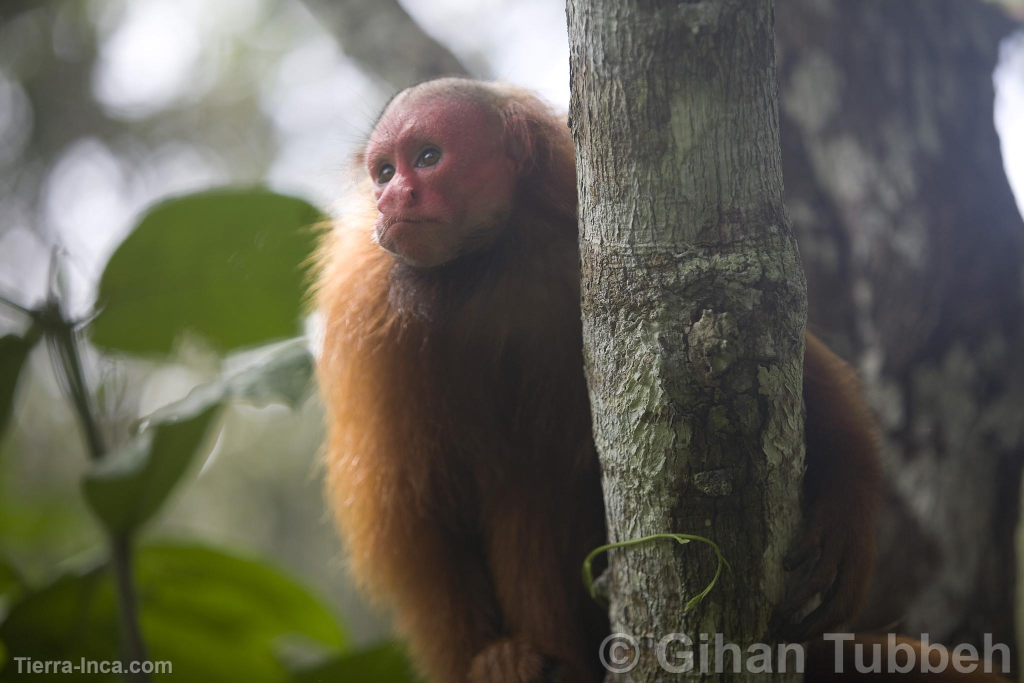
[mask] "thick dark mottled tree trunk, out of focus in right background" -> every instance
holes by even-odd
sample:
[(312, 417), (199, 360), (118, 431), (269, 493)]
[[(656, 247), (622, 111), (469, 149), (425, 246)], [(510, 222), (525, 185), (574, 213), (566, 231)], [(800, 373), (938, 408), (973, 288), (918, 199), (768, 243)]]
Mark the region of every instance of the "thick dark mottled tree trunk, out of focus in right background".
[(983, 2), (778, 3), (810, 318), (864, 375), (885, 433), (869, 630), (1014, 642), (1024, 225), (991, 79), (1012, 28)]

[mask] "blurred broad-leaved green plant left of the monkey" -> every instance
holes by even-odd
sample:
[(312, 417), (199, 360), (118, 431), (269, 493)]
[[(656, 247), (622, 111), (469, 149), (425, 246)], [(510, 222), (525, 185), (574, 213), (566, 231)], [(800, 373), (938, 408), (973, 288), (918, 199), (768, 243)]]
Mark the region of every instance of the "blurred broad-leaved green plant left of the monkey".
[[(144, 652), (135, 654), (170, 661), (172, 676), (182, 680), (413, 680), (397, 646), (353, 649), (328, 606), (258, 560), (198, 546), (148, 545), (125, 560), (133, 590), (126, 592), (115, 580), (117, 549), (133, 546), (194, 461), (209, 452), (220, 431), (218, 414), (238, 401), (297, 409), (308, 396), (308, 344), (276, 342), (293, 335), (303, 317), (302, 269), (314, 248), (311, 224), (317, 220), (305, 202), (261, 188), (186, 196), (143, 215), (110, 260), (100, 280), (101, 308), (89, 327), (101, 346), (166, 360), (189, 335), (221, 351), (269, 346), (259, 360), (225, 370), (150, 413), (114, 450), (93, 454), (98, 460), (82, 475), (85, 500), (104, 536), (126, 540), (113, 543), (108, 560), (92, 566), (71, 562), (40, 586), (26, 585), (12, 565), (0, 563), (3, 680), (69, 678), (19, 672), (15, 657), (75, 663), (126, 657), (131, 654), (123, 649), (131, 640), (122, 640), (131, 628), (123, 621), (126, 609), (137, 615), (144, 642)], [(76, 408), (88, 425), (94, 411), (82, 403), (94, 398), (80, 385), (75, 344), (81, 340), (77, 324), (61, 316), (56, 296), (51, 293), (39, 310), (27, 309), (35, 321), (30, 336), (0, 339), (4, 415), (10, 413), (38, 326), (52, 342), (61, 386), (70, 396), (86, 395)], [(245, 305), (248, 300), (267, 304)], [(65, 343), (72, 346), (63, 348)], [(113, 674), (79, 677), (121, 680)]]

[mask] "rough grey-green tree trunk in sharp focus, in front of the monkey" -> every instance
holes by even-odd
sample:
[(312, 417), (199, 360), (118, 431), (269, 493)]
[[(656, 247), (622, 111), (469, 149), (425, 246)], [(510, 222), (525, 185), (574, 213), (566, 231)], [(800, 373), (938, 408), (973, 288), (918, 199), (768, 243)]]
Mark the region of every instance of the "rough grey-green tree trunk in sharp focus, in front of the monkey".
[(799, 516), (806, 299), (782, 203), (772, 2), (574, 0), (568, 17), (610, 540), (703, 535), (732, 564), (684, 613), (714, 573), (707, 547), (611, 551), (612, 631), (638, 641), (626, 680), (664, 680), (671, 634), (694, 649), (700, 633), (767, 642)]

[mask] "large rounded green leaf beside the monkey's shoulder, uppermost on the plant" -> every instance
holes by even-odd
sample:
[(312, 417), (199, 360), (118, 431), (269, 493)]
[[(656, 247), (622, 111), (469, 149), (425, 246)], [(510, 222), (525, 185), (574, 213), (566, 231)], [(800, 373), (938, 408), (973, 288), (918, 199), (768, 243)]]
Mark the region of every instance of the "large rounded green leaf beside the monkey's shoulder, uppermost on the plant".
[(294, 336), (319, 220), (307, 202), (262, 188), (156, 206), (103, 270), (92, 342), (168, 353), (186, 331), (220, 351)]

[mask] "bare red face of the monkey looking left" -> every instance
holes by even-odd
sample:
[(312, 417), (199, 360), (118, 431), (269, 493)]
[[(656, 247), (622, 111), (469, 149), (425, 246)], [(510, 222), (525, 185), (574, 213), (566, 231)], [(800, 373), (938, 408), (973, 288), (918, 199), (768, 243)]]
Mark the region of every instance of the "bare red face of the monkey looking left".
[(380, 245), (431, 267), (490, 244), (516, 184), (502, 122), (481, 103), (399, 95), (367, 145)]

